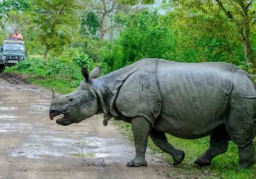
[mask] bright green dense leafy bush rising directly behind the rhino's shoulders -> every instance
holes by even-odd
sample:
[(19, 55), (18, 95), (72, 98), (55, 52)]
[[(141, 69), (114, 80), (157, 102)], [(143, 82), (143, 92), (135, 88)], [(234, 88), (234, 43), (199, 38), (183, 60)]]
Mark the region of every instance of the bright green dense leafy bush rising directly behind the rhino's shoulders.
[(156, 11), (143, 10), (122, 18), (119, 21), (127, 28), (121, 30), (104, 56), (104, 63), (111, 71), (148, 57), (175, 60), (175, 34), (168, 30), (165, 17)]

